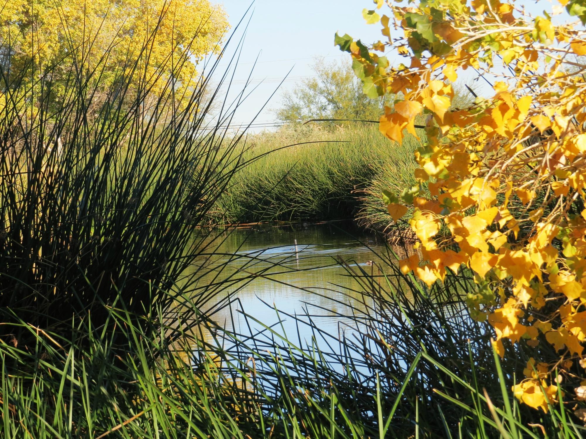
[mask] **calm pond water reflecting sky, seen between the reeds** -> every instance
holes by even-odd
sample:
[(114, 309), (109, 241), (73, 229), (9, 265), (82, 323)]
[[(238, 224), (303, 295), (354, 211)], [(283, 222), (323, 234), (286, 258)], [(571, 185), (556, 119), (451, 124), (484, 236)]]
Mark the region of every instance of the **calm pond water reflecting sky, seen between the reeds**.
[[(222, 233), (217, 239), (223, 240), (222, 244), (217, 246), (215, 241), (210, 245), (209, 254), (202, 255), (193, 267), (192, 275), (197, 278), (193, 300), (217, 325), (234, 332), (238, 341), (223, 338), (222, 331), (209, 332), (203, 325), (199, 329), (203, 341), (215, 345), (208, 352), (221, 347), (247, 367), (255, 358), (254, 368), (259, 371), (263, 392), (267, 395), (278, 394), (280, 387), (275, 380), (282, 370), (274, 372), (274, 368), (282, 368), (285, 363), (287, 373), (301, 380), (306, 378), (308, 371), (316, 377), (322, 373), (323, 376), (336, 373), (341, 380), (346, 380), (350, 373), (353, 380), (366, 383), (364, 385), (372, 389), (376, 386), (373, 371), (378, 370), (374, 366), (384, 366), (389, 361), (390, 350), (395, 352), (391, 369), (405, 372), (409, 368), (411, 360), (407, 361), (407, 354), (407, 358), (401, 354), (402, 349), (416, 351), (419, 347), (410, 335), (411, 321), (420, 328), (418, 331), (430, 335), (428, 339), (441, 339), (450, 331), (436, 318), (435, 311), (426, 312), (430, 308), (420, 301), (421, 297), (409, 293), (407, 283), (396, 275), (396, 267), (391, 269), (395, 260), (389, 254), (391, 249), (377, 241), (375, 235), (321, 226), (297, 230), (267, 228), (262, 232), (244, 229)], [(406, 257), (404, 249), (393, 247), (392, 251), (399, 258)], [(379, 285), (349, 276), (340, 264), (340, 257), (356, 275), (374, 275), (380, 280), (383, 292), (374, 291), (369, 296), (370, 289), (376, 290)], [(393, 289), (386, 286), (379, 267), (384, 274), (390, 275), (394, 291), (403, 291), (399, 296), (413, 305), (415, 316), (410, 314), (411, 318), (406, 318), (402, 315), (403, 308), (395, 306)], [(375, 303), (373, 297), (379, 297), (380, 301)], [(441, 313), (454, 324), (451, 328), (462, 334), (459, 339), (465, 341), (471, 334), (476, 337), (478, 330), (468, 330), (465, 304), (449, 297), (444, 299)], [(230, 303), (231, 308), (226, 303)], [(403, 306), (405, 304), (403, 301)], [(281, 321), (275, 308), (279, 310)], [(354, 317), (347, 317), (349, 315)], [(312, 325), (303, 323), (309, 319)], [(367, 326), (357, 323), (360, 321)], [(358, 331), (353, 329), (357, 324)], [(265, 327), (270, 327), (274, 334)], [(280, 339), (280, 335), (286, 335), (291, 345)], [(341, 338), (345, 342), (338, 342)], [(397, 348), (389, 349), (387, 343)], [(198, 358), (202, 352), (194, 346), (189, 355)], [(193, 363), (198, 364), (195, 359)]]

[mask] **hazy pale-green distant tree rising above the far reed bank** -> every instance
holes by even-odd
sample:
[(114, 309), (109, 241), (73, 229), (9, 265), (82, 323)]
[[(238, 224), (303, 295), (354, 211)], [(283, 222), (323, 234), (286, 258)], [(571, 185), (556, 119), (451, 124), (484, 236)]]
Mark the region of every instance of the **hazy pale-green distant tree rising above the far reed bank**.
[(347, 61), (327, 63), (318, 58), (312, 67), (315, 77), (299, 83), (284, 94), (277, 117), (284, 122), (299, 123), (308, 119), (369, 119), (378, 121), (386, 95), (369, 99), (362, 83)]

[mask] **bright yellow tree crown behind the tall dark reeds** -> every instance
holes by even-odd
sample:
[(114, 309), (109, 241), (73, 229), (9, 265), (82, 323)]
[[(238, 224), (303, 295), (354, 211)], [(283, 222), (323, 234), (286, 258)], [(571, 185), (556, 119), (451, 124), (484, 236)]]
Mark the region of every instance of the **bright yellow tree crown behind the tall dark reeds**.
[(39, 68), (56, 65), (50, 75), (57, 95), (69, 74), (60, 66), (75, 64), (101, 71), (94, 77), (104, 90), (133, 69), (153, 93), (168, 89), (173, 77), (178, 98), (196, 84), (196, 63), (220, 49), (227, 28), (226, 13), (209, 0), (8, 0), (0, 8), (0, 40), (11, 46), (11, 73), (34, 83), (43, 74)]

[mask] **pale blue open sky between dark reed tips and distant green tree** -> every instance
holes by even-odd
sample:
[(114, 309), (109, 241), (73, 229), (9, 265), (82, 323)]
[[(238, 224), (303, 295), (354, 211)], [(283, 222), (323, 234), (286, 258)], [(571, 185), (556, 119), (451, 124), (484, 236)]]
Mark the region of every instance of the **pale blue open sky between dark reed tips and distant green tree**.
[[(231, 25), (235, 26), (251, 1), (224, 0), (217, 3), (223, 4)], [(313, 74), (311, 65), (314, 57), (323, 56), (325, 60), (332, 61), (347, 56), (333, 45), (336, 31), (359, 37), (365, 42), (381, 39), (380, 25), (366, 25), (362, 18), (362, 9), (372, 6), (372, 0), (256, 0), (251, 8), (254, 11), (250, 13), (250, 24), (234, 83), (241, 90), (241, 81), (246, 80), (257, 55), (260, 62), (254, 68), (252, 77), (265, 81), (260, 85), (253, 84), (253, 87), (258, 87), (241, 105), (235, 121), (250, 121), (279, 85), (275, 78), (287, 76), (292, 68), (289, 79), (257, 118), (261, 124), (270, 124), (275, 119), (271, 110), (278, 107), (282, 90), (294, 87), (302, 77)]]

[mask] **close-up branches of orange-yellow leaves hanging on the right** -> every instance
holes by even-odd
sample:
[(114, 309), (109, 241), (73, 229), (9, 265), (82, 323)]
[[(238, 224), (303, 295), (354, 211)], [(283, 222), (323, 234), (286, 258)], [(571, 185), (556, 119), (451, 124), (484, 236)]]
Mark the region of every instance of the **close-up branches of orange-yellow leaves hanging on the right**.
[[(386, 51), (407, 61), (363, 81), (403, 94), (381, 118), (391, 140), (400, 142), (418, 114), (429, 114), (427, 142), (415, 152), (415, 179), (428, 181), (429, 197), (414, 198), (410, 220), (429, 262), (420, 267), (408, 259), (401, 271), (413, 270), (431, 286), (447, 266), (471, 267), (479, 289), (495, 291), (472, 294), (468, 304), (476, 318), (488, 315), (499, 354), (504, 341), (550, 344), (560, 358), (548, 360), (570, 376), (573, 363), (586, 365), (586, 9), (578, 0), (560, 1), (580, 20), (554, 26), (554, 14), (533, 18), (516, 3), (387, 1)], [(390, 38), (393, 20), (403, 38)], [(496, 53), (508, 68), (493, 63)], [(365, 71), (378, 62), (364, 53), (352, 57)], [(454, 109), (451, 82), (473, 69), (502, 80), (492, 97)], [(441, 225), (449, 232), (440, 238)], [(527, 379), (513, 390), (547, 411), (557, 387), (546, 385), (547, 365), (531, 364), (537, 373), (528, 365)], [(578, 399), (586, 395), (586, 380), (577, 389)]]

